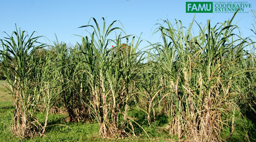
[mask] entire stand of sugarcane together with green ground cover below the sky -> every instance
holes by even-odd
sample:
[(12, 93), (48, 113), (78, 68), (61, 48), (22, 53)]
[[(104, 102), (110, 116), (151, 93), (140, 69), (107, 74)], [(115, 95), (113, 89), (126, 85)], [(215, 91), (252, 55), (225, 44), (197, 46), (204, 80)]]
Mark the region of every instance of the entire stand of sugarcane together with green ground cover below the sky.
[(233, 18), (197, 23), (198, 35), (194, 20), (188, 28), (164, 20), (155, 31), (162, 43), (146, 52), (104, 18), (81, 26), (93, 31), (75, 46), (16, 29), (1, 39), (9, 86), (0, 92), (10, 92), (0, 100), (2, 141), (17, 141), (11, 132), (31, 142), (256, 141), (255, 42)]

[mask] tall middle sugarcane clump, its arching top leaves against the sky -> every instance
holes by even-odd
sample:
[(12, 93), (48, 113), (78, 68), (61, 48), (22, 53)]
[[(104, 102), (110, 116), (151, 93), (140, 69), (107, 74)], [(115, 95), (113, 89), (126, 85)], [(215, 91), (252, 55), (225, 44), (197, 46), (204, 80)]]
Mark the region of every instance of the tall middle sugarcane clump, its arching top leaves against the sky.
[[(103, 19), (103, 29), (99, 28), (97, 21), (93, 18), (96, 27), (86, 25), (81, 27), (92, 27), (93, 32), (89, 37), (83, 37), (81, 53), (85, 55), (84, 66), (88, 84), (91, 90), (90, 104), (92, 115), (100, 125), (99, 134), (103, 137), (124, 137), (130, 134), (125, 131), (127, 125), (132, 125), (132, 118), (127, 116), (130, 110), (129, 104), (132, 101), (131, 84), (136, 76), (136, 65), (141, 59), (137, 59), (137, 47), (139, 40), (126, 46), (121, 44), (121, 34), (115, 40), (107, 39), (109, 34), (121, 28), (112, 24), (106, 27)], [(80, 27), (80, 28), (81, 28)], [(125, 36), (128, 39), (128, 36)], [(110, 42), (114, 43), (109, 48)], [(121, 46), (122, 45), (122, 46)], [(129, 45), (129, 46), (128, 46)], [(133, 129), (133, 126), (131, 126)], [(134, 134), (134, 130), (131, 130)]]

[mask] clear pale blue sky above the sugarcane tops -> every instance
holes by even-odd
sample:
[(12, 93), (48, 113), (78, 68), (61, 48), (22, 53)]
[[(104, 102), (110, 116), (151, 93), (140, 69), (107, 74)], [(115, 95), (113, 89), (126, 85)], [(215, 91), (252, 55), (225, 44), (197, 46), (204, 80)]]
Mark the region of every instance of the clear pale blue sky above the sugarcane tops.
[[(201, 0), (186, 0), (201, 1)], [(159, 19), (181, 20), (183, 26), (188, 27), (192, 22), (194, 13), (186, 13), (186, 1), (171, 0), (3, 0), (1, 1), (0, 14), (0, 38), (5, 33), (11, 35), (15, 30), (15, 23), (21, 30), (28, 31), (30, 35), (36, 31), (36, 35), (45, 36), (51, 42), (58, 41), (75, 44), (81, 42), (81, 38), (75, 35), (88, 35), (84, 29), (77, 27), (87, 25), (91, 17), (100, 21), (101, 17), (107, 20), (107, 25), (114, 20), (119, 20), (125, 27), (127, 35), (140, 36), (149, 42), (161, 42), (159, 35), (152, 37), (152, 32), (162, 23)], [(209, 1), (209, 0), (203, 0)], [(225, 1), (225, 0), (222, 0)], [(231, 1), (231, 0), (229, 0)], [(232, 0), (233, 2), (234, 0)], [(239, 0), (235, 0), (239, 1)], [(251, 4), (251, 8), (245, 8), (249, 13), (238, 13), (234, 21), (241, 28), (244, 37), (252, 36), (248, 29), (252, 28), (254, 18), (250, 10), (256, 10), (256, 1), (240, 0)], [(214, 2), (217, 2), (216, 0)], [(228, 0), (226, 0), (228, 2)], [(233, 13), (197, 13), (195, 20), (206, 24), (211, 19), (211, 25), (230, 19)], [(93, 24), (93, 23), (91, 23)], [(120, 24), (116, 26), (121, 27)], [(151, 29), (153, 30), (151, 31)], [(196, 26), (195, 26), (196, 28)], [(49, 41), (42, 42), (52, 44)], [(146, 45), (142, 44), (142, 47)]]

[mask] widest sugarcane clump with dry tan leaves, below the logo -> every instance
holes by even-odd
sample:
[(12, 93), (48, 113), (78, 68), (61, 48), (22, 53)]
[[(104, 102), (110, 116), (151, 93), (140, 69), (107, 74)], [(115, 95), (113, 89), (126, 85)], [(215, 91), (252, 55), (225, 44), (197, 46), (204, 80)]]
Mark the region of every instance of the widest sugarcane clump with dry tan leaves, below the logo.
[[(192, 141), (226, 140), (220, 135), (222, 123), (231, 124), (233, 132), (234, 115), (222, 116), (239, 110), (234, 101), (227, 101), (236, 92), (227, 90), (232, 77), (245, 72), (234, 66), (246, 55), (243, 49), (247, 46), (243, 38), (233, 33), (237, 28), (231, 24), (233, 18), (214, 27), (208, 20), (206, 27), (199, 25), (198, 36), (192, 36), (193, 22), (187, 31), (177, 20), (176, 29), (169, 20), (164, 21), (167, 27), (159, 27), (163, 45), (157, 48), (158, 63), (173, 92), (169, 101), (173, 106), (170, 134), (178, 134), (179, 139), (185, 136)], [(224, 74), (229, 70), (234, 73)], [(223, 86), (224, 82), (228, 85)]]

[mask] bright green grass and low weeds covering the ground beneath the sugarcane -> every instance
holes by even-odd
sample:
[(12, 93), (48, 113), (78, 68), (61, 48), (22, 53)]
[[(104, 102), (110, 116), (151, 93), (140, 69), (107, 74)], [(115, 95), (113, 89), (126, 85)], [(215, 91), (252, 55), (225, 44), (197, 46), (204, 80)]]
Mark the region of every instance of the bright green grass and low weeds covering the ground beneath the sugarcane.
[[(1, 87), (0, 87), (0, 94), (1, 94), (1, 100), (0, 100), (0, 141), (1, 142), (19, 142), (21, 141), (18, 137), (13, 136), (13, 134), (10, 131), (10, 122), (13, 115), (13, 102), (12, 97), (10, 94), (7, 94), (6, 88), (4, 88), (2, 85), (6, 85), (5, 81), (0, 81)], [(3, 96), (3, 97), (2, 97)], [(4, 99), (3, 99), (4, 98)], [(158, 142), (175, 142), (178, 141), (177, 136), (170, 137), (168, 135), (168, 131), (161, 130), (159, 128), (155, 128), (154, 125), (148, 126), (147, 123), (143, 123), (144, 119), (146, 118), (146, 115), (143, 113), (140, 113), (137, 110), (131, 111), (130, 116), (136, 117), (138, 119), (138, 123), (143, 126), (143, 128), (147, 131), (152, 141), (158, 141)], [(157, 117), (157, 123), (158, 125), (164, 126), (162, 123), (166, 123), (165, 116), (162, 117), (161, 115), (156, 116)], [(36, 118), (39, 119), (39, 121), (42, 123), (45, 120), (45, 114), (38, 112), (36, 113)], [(51, 114), (49, 115), (49, 123), (48, 127), (46, 128), (46, 133), (43, 137), (34, 137), (30, 139), (22, 140), (23, 142), (105, 142), (105, 141), (113, 141), (113, 142), (121, 142), (121, 141), (150, 141), (146, 134), (141, 130), (141, 128), (136, 127), (135, 125), (135, 131), (140, 133), (140, 135), (137, 138), (126, 138), (126, 139), (102, 139), (99, 136), (99, 126), (97, 122), (86, 122), (86, 123), (67, 123), (66, 119), (68, 118), (68, 115), (66, 114)], [(237, 117), (238, 118), (238, 117)], [(240, 118), (241, 119), (241, 118)], [(246, 126), (243, 125), (242, 121), (246, 121)], [(248, 130), (248, 135), (250, 139), (253, 139), (252, 134), (255, 134), (255, 124), (251, 124), (249, 119), (241, 119), (239, 121), (236, 121), (236, 125), (239, 126), (231, 137), (231, 141), (239, 141), (241, 140), (241, 137), (245, 137), (244, 133)], [(241, 123), (241, 124), (240, 124)], [(66, 126), (64, 126), (66, 125)], [(250, 126), (249, 126), (250, 125)], [(227, 130), (226, 135), (229, 134), (229, 131)]]

